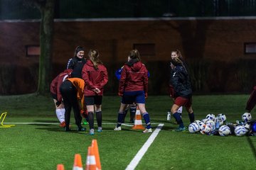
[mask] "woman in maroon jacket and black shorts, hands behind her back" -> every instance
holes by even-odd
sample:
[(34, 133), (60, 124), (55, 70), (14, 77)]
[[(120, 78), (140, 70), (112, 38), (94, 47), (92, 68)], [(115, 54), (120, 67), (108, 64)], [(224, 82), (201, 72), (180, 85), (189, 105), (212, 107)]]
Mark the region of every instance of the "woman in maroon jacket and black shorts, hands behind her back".
[(85, 106), (90, 126), (90, 135), (94, 135), (94, 116), (96, 113), (98, 130), (102, 132), (102, 96), (103, 87), (107, 84), (107, 69), (99, 59), (97, 50), (90, 50), (89, 60), (82, 68), (82, 79), (85, 80)]

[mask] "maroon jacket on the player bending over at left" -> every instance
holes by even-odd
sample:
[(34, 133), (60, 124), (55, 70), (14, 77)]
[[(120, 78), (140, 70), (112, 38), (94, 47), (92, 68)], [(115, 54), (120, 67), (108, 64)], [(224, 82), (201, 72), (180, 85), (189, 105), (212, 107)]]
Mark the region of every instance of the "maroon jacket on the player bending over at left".
[(60, 85), (65, 79), (70, 77), (72, 69), (65, 69), (64, 72), (58, 74), (55, 79), (50, 83), (50, 93), (57, 95), (57, 101), (62, 101), (62, 96), (60, 94)]

